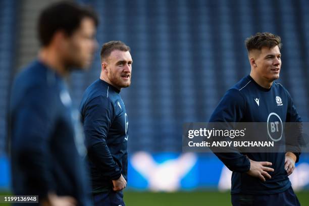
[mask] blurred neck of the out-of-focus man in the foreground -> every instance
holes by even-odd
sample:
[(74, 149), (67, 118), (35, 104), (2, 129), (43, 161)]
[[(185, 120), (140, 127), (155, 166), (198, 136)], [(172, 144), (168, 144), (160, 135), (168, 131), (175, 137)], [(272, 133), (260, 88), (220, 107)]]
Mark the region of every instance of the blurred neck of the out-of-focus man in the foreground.
[(38, 59), (60, 76), (66, 77), (69, 75), (68, 69), (61, 61), (55, 49), (42, 48), (38, 54)]

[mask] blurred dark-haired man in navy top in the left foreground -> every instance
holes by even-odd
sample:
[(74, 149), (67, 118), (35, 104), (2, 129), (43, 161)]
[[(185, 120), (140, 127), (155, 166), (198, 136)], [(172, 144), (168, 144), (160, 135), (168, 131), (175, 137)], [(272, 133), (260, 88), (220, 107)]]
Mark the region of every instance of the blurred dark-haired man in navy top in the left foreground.
[(77, 132), (81, 125), (64, 78), (72, 68), (90, 65), (97, 47), (96, 27), (96, 14), (77, 4), (58, 2), (45, 8), (38, 21), (38, 59), (13, 84), (13, 192), (38, 195), (41, 205), (91, 205), (81, 157), (86, 150)]

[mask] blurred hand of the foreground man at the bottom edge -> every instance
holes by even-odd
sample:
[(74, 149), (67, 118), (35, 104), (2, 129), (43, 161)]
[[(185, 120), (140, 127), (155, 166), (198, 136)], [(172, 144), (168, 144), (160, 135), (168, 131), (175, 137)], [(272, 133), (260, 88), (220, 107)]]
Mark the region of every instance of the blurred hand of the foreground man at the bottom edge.
[(47, 199), (41, 202), (43, 206), (76, 206), (76, 200), (71, 196), (58, 196), (55, 193), (48, 193)]

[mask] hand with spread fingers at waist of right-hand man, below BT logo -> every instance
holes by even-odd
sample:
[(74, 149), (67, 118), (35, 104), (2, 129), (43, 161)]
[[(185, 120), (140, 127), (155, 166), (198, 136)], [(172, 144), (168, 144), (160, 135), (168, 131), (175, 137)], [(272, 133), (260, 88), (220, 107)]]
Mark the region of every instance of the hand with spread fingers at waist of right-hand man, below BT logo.
[[(250, 160), (250, 159), (249, 159)], [(250, 170), (247, 172), (248, 175), (252, 177), (258, 177), (262, 181), (266, 181), (265, 177), (271, 179), (272, 177), (268, 172), (274, 172), (273, 168), (269, 168), (266, 166), (272, 166), (273, 164), (270, 162), (255, 162), (250, 160)]]

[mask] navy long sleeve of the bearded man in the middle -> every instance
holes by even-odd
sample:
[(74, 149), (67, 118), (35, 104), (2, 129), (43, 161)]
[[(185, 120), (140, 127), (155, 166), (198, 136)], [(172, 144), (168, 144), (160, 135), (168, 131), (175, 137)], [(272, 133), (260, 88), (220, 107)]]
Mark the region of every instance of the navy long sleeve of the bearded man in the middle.
[(121, 176), (121, 168), (114, 161), (108, 147), (109, 128), (115, 118), (111, 100), (105, 96), (93, 98), (83, 108), (83, 125), (91, 162), (112, 180)]

